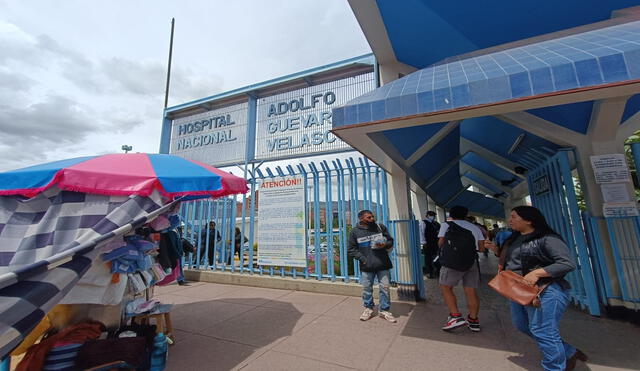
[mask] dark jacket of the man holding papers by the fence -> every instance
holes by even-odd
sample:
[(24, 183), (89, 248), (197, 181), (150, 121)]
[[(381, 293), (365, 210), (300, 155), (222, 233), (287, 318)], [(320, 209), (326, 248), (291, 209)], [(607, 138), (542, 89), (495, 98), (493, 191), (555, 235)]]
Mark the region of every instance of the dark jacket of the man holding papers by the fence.
[[(372, 238), (380, 234), (387, 239), (385, 248), (372, 249)], [(393, 268), (387, 252), (387, 249), (391, 247), (393, 247), (393, 238), (389, 235), (384, 224), (378, 224), (374, 229), (358, 224), (349, 233), (349, 257), (360, 262), (360, 270), (363, 272), (377, 272)]]

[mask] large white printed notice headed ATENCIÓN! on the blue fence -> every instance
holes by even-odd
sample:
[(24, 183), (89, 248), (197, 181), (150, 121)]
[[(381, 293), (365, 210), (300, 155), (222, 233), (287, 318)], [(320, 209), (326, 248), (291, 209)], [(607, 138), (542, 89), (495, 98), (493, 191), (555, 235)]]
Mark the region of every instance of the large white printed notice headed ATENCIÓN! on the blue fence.
[(265, 179), (258, 193), (258, 265), (306, 267), (304, 180)]

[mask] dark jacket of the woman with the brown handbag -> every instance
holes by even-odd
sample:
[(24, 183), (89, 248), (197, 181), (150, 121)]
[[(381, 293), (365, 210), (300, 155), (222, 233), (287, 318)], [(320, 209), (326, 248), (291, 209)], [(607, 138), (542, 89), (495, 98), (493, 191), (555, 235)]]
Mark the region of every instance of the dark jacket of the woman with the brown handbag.
[[(504, 267), (508, 262), (511, 253), (511, 242), (515, 240), (518, 233), (509, 238), (500, 255), (500, 264)], [(522, 243), (520, 250), (521, 267), (505, 267), (515, 270), (526, 276), (527, 273), (543, 268), (551, 277), (543, 277), (538, 280), (538, 285), (557, 282), (564, 289), (569, 289), (571, 285), (564, 279), (564, 276), (576, 269), (571, 252), (567, 245), (559, 236), (547, 234), (541, 237), (527, 239)], [(516, 268), (516, 269), (513, 269)], [(520, 269), (517, 269), (520, 268)]]

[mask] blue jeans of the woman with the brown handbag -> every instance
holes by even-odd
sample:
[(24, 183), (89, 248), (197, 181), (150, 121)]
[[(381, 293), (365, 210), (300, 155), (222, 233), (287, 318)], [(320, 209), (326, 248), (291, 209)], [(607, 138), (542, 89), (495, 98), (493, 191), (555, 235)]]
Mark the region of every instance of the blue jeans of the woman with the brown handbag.
[(558, 325), (569, 304), (569, 293), (557, 283), (549, 285), (540, 298), (540, 308), (510, 302), (511, 322), (532, 337), (542, 353), (542, 368), (564, 370), (576, 348), (560, 337)]

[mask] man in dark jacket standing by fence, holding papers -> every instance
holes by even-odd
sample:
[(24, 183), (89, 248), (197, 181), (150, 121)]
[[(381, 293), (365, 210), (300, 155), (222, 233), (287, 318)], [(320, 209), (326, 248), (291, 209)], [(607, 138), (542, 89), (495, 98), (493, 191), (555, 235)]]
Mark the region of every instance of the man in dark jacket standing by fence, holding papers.
[(360, 264), (360, 283), (362, 284), (362, 301), (364, 312), (361, 321), (373, 317), (373, 281), (377, 277), (380, 286), (380, 307), (378, 314), (389, 322), (396, 322), (396, 318), (389, 311), (389, 270), (393, 267), (389, 252), (393, 248), (393, 238), (387, 227), (376, 223), (376, 218), (370, 210), (358, 213), (358, 224), (349, 233), (349, 257), (358, 260)]

